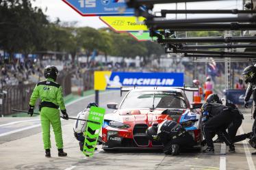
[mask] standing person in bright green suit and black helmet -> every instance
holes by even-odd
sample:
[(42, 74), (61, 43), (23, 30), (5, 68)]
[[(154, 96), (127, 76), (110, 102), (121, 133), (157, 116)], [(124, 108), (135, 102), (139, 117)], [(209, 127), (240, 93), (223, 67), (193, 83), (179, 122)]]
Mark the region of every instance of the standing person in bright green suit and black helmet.
[(64, 119), (68, 119), (68, 114), (66, 113), (62, 96), (62, 87), (55, 82), (58, 74), (59, 72), (55, 66), (47, 66), (44, 68), (44, 77), (46, 80), (36, 85), (29, 102), (28, 114), (32, 116), (36, 100), (40, 98), (39, 110), (42, 126), (42, 140), (44, 142), (46, 157), (51, 157), (50, 124), (53, 126), (58, 156), (67, 156), (66, 152), (63, 151), (60, 110), (62, 111)]

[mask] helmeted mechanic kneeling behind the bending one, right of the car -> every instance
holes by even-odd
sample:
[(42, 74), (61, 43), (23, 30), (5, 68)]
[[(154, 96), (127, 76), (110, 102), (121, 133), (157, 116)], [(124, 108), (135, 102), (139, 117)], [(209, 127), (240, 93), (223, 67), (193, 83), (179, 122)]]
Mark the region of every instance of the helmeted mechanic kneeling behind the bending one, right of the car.
[[(231, 138), (233, 143), (243, 141), (246, 138), (249, 138), (251, 136), (251, 132), (247, 133), (247, 134), (241, 134), (241, 135), (235, 136), (236, 133), (238, 132), (238, 128), (242, 124), (242, 119), (244, 119), (244, 115), (242, 115), (242, 113), (240, 112), (238, 107), (236, 107), (235, 104), (233, 104), (230, 100), (227, 100), (225, 98), (222, 98), (220, 100), (220, 98), (218, 97), (218, 94), (210, 94), (207, 97), (206, 102), (208, 102), (208, 103), (219, 103), (219, 104), (225, 105), (226, 107), (231, 108), (234, 119), (233, 119), (233, 122), (231, 122), (231, 124), (229, 125), (229, 127), (227, 129), (228, 129), (229, 137)], [(224, 141), (221, 137), (218, 137), (218, 139), (216, 139), (216, 141), (214, 141), (214, 143), (223, 143), (223, 142)]]

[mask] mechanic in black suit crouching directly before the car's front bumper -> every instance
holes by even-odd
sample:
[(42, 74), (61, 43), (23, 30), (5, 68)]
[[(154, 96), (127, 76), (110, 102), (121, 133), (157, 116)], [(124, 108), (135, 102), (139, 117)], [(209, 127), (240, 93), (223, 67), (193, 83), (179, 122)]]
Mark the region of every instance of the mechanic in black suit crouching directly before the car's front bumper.
[(164, 120), (157, 126), (153, 125), (146, 130), (148, 139), (160, 141), (164, 144), (164, 154), (179, 154), (180, 147), (195, 145), (193, 137), (175, 121)]

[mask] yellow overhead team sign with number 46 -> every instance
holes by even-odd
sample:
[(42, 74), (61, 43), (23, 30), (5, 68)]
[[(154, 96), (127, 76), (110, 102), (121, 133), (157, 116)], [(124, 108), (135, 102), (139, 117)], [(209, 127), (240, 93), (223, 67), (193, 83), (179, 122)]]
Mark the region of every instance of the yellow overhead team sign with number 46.
[(105, 24), (117, 32), (122, 31), (149, 31), (143, 23), (146, 18), (136, 16), (101, 16)]

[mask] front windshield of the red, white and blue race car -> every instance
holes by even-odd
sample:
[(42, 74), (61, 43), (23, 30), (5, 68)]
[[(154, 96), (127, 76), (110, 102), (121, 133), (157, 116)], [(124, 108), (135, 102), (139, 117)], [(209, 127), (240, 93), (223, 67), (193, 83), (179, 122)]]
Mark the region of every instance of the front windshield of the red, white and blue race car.
[(120, 109), (134, 108), (185, 109), (186, 104), (181, 93), (166, 91), (131, 91)]

